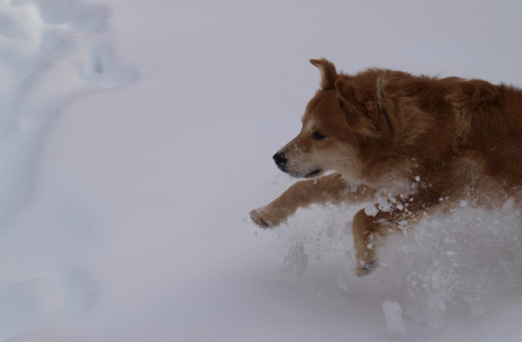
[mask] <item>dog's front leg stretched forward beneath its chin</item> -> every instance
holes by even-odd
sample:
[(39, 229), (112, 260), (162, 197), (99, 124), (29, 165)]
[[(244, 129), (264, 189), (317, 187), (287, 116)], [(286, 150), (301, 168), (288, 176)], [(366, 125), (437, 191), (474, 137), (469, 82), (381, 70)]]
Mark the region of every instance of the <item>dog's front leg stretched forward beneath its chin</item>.
[(361, 201), (362, 197), (371, 194), (373, 191), (363, 185), (352, 189), (340, 174), (335, 173), (293, 184), (267, 206), (252, 210), (250, 217), (260, 227), (275, 227), (295, 213), (299, 207), (306, 207), (312, 203), (338, 204), (349, 199)]

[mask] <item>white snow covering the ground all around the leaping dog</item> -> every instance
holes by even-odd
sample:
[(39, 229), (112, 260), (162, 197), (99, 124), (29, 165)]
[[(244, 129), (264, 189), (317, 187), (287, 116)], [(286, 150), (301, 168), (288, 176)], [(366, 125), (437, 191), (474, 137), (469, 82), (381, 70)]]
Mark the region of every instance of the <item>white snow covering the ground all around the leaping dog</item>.
[(522, 85), (521, 9), (0, 1), (0, 340), (522, 340), (511, 202), (426, 216), (363, 278), (360, 207), (247, 216), (294, 182), (270, 156), (309, 58)]

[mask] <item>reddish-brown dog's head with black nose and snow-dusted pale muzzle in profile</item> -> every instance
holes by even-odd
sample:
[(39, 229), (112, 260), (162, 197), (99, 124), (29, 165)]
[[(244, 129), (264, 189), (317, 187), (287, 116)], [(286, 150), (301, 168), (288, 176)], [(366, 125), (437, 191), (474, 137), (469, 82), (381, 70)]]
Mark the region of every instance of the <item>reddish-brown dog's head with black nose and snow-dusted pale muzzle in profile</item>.
[(301, 132), (274, 161), (295, 177), (334, 170), (360, 180), (375, 141), (383, 140), (390, 124), (382, 102), (383, 70), (348, 76), (324, 58), (310, 62), (321, 71), (321, 88), (306, 106)]

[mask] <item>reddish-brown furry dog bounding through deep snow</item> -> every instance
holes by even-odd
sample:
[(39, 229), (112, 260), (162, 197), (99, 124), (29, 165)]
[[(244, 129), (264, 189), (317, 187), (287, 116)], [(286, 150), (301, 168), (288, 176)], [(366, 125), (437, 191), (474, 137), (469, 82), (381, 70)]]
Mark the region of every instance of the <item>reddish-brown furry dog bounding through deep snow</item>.
[(520, 204), (520, 89), (378, 68), (348, 75), (325, 58), (310, 62), (320, 88), (299, 135), (273, 156), (281, 171), (306, 180), (252, 210), (257, 225), (278, 226), (313, 203), (366, 203), (352, 226), (362, 276), (377, 267), (386, 234), (426, 214), (462, 201)]

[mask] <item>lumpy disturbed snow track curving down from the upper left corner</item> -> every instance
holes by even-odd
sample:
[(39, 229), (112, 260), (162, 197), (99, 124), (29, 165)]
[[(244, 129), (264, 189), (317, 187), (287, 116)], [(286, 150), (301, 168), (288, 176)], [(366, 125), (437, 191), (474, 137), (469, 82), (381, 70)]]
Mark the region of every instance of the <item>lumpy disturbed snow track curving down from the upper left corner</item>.
[(106, 6), (73, 0), (0, 2), (0, 219), (30, 193), (55, 114), (136, 77), (115, 62), (109, 14)]

